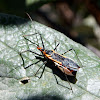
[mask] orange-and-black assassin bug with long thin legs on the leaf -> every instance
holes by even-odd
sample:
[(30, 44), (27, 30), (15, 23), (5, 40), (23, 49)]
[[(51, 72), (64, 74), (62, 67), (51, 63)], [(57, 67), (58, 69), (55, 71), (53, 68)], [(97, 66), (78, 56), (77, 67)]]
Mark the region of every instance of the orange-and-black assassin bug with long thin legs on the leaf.
[[(30, 16), (29, 16), (29, 18), (30, 18)], [(36, 34), (39, 34), (39, 33), (36, 33)], [(36, 35), (36, 34), (31, 34), (31, 35)], [(44, 42), (42, 40), (42, 36), (41, 36), (41, 34), (39, 34), (39, 35), (40, 35), (40, 39), (41, 39), (43, 47), (40, 47), (39, 44), (34, 43), (31, 40), (29, 40), (28, 38), (26, 38), (26, 36), (30, 36), (30, 35), (24, 35), (23, 37), (24, 37), (25, 40), (27, 40), (27, 41), (31, 42), (33, 45), (35, 45), (37, 47), (37, 49), (39, 51), (41, 51), (42, 55), (38, 54), (38, 53), (36, 53), (36, 52), (34, 52), (32, 50), (26, 50), (26, 51), (23, 51), (23, 52), (27, 52), (28, 51), (28, 52), (31, 52), (31, 53), (36, 54), (38, 56), (42, 56), (42, 57), (46, 58), (46, 60), (51, 60), (55, 64), (55, 66), (57, 66), (65, 74), (66, 79), (67, 79), (67, 81), (69, 83), (67, 75), (69, 75), (69, 76), (75, 76), (76, 72), (78, 71), (78, 69), (80, 68), (80, 66), (78, 66), (73, 60), (71, 60), (71, 59), (69, 59), (69, 58), (67, 58), (67, 57), (65, 57), (63, 55), (65, 53), (67, 53), (68, 51), (71, 51), (71, 50), (74, 50), (74, 49), (70, 49), (70, 50), (64, 52), (63, 54), (58, 54), (57, 52), (55, 52), (55, 50), (59, 46), (59, 44), (57, 44), (53, 50), (46, 50), (45, 46), (44, 46)], [(20, 53), (20, 56), (22, 58), (23, 66), (24, 66), (25, 63), (24, 63), (24, 59), (23, 59), (21, 53)], [(43, 63), (43, 65), (45, 65), (46, 63), (47, 63), (47, 61), (45, 61)], [(25, 67), (25, 69), (28, 68), (28, 67), (30, 67), (30, 66), (32, 66), (32, 65), (33, 64), (28, 65), (27, 67)], [(43, 67), (43, 65), (37, 70), (37, 72), (35, 73), (35, 76), (38, 73), (38, 71)], [(43, 71), (42, 71), (42, 73), (41, 73), (41, 75), (40, 75), (39, 78), (42, 77), (44, 70), (45, 70), (45, 66), (43, 67)], [(56, 82), (57, 82), (57, 84), (59, 84), (58, 81), (57, 81), (57, 78), (56, 78)], [(71, 87), (71, 85), (70, 85), (70, 87)], [(71, 87), (71, 90), (72, 90), (72, 87)]]

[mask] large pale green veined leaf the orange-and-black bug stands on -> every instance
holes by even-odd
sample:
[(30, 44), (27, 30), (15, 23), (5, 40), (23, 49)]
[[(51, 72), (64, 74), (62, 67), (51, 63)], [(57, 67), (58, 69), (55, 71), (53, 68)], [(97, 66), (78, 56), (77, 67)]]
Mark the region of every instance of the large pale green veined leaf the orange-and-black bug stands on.
[[(71, 82), (72, 90), (56, 84), (52, 73), (58, 69), (52, 64), (47, 64), (41, 79), (34, 76), (38, 68), (43, 64), (43, 59), (35, 58), (35, 55), (29, 52), (22, 54), (25, 60), (25, 66), (38, 63), (24, 69), (19, 52), (31, 49), (39, 53), (36, 46), (23, 38), (23, 35), (34, 33), (42, 34), (46, 49), (55, 48), (56, 43), (60, 43), (57, 48), (59, 54), (73, 48), (81, 63), (78, 61), (73, 51), (65, 54), (81, 66), (75, 77), (68, 77)], [(26, 36), (34, 43), (42, 46), (39, 35)], [(54, 68), (49, 68), (54, 67)], [(42, 69), (38, 72), (41, 74)], [(55, 74), (59, 83), (69, 87), (67, 81), (64, 81), (62, 73)], [(62, 33), (44, 26), (37, 22), (27, 21), (25, 19), (0, 14), (0, 100), (99, 100), (100, 99), (100, 58), (82, 45), (72, 41)], [(21, 84), (21, 80), (28, 80), (26, 84)]]

